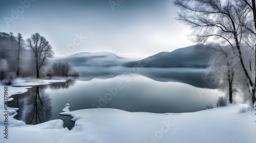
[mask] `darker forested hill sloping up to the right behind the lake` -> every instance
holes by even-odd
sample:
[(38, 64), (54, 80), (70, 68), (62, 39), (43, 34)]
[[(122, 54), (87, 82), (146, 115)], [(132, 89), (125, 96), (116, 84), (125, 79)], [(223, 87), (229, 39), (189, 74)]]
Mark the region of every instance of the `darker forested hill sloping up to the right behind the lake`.
[(195, 46), (179, 48), (172, 52), (160, 52), (148, 58), (125, 63), (123, 67), (147, 67), (147, 68), (169, 68), (169, 67), (208, 67), (210, 53), (199, 50)]

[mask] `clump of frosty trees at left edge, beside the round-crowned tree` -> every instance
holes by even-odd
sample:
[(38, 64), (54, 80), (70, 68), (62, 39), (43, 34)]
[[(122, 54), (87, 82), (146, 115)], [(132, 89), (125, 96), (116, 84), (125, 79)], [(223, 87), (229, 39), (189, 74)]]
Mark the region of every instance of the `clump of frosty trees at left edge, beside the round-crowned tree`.
[[(25, 43), (21, 34), (17, 37), (13, 33), (0, 32), (0, 59), (7, 60), (9, 66), (7, 72), (15, 72), (17, 76), (34, 76), (36, 73), (33, 56), (28, 49), (25, 48)], [(0, 72), (0, 76), (3, 74)], [(3, 80), (3, 77), (0, 78)]]

